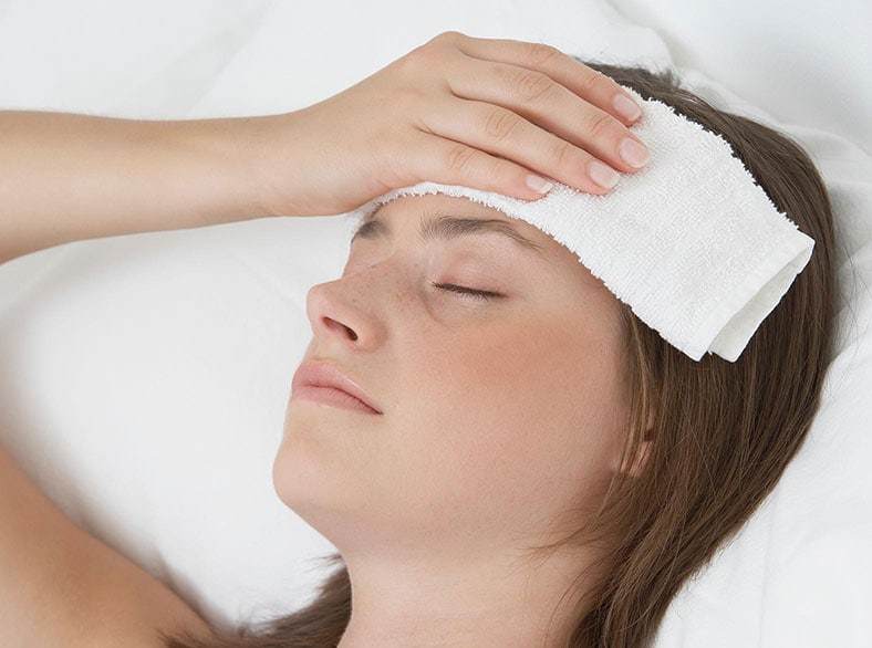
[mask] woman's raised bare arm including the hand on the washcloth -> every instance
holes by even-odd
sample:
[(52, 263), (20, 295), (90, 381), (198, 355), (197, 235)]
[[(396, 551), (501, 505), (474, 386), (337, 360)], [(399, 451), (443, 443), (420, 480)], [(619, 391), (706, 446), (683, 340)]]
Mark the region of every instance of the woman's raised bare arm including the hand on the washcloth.
[(341, 213), (422, 180), (532, 200), (544, 176), (601, 195), (591, 165), (637, 169), (620, 153), (640, 142), (615, 103), (627, 96), (551, 48), (446, 33), (288, 114), (0, 112), (0, 263), (77, 239)]

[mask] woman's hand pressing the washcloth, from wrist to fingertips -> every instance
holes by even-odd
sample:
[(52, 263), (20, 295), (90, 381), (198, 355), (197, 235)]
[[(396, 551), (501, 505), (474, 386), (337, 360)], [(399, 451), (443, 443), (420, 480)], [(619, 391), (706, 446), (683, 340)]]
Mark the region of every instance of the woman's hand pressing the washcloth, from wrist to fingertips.
[(528, 200), (543, 178), (605, 194), (609, 167), (636, 170), (621, 142), (641, 144), (616, 97), (635, 105), (553, 48), (444, 33), (329, 100), (263, 117), (264, 205), (277, 216), (341, 213), (422, 180)]

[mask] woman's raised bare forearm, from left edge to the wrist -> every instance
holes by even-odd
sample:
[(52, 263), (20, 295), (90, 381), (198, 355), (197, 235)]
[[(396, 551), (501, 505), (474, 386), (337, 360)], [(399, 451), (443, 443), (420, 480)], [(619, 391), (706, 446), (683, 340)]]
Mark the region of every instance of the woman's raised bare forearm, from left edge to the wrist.
[(60, 243), (267, 216), (259, 117), (0, 112), (0, 262)]

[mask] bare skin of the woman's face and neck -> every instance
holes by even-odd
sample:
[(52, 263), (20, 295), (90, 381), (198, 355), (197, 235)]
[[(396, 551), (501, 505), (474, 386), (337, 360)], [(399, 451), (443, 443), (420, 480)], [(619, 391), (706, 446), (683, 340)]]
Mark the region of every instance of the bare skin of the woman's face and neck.
[[(484, 230), (422, 240), (439, 219), (497, 222), (538, 251)], [(464, 198), (399, 198), (373, 222), (309, 291), (303, 360), (347, 373), (382, 414), (292, 396), (273, 468), (349, 568), (340, 647), (565, 646), (593, 587), (571, 582), (602, 555), (526, 550), (630, 470), (619, 302), (551, 237)]]

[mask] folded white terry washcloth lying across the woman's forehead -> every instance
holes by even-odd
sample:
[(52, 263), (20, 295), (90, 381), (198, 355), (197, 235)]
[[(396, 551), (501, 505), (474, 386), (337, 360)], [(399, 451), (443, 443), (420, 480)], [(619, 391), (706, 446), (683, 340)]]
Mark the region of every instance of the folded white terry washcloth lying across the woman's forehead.
[(604, 196), (557, 182), (523, 201), (421, 182), (350, 212), (352, 224), (401, 196), (475, 200), (550, 234), (669, 344), (735, 362), (811, 258), (814, 241), (772, 205), (720, 136), (642, 97), (632, 130), (651, 161)]

